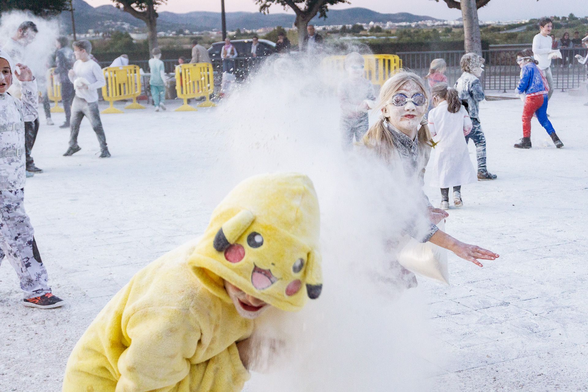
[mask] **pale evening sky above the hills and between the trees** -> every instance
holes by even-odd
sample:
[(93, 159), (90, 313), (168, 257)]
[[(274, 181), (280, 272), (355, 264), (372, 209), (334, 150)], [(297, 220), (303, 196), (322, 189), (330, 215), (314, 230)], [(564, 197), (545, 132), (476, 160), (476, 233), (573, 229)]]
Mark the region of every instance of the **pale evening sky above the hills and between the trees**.
[[(85, 0), (92, 6), (112, 4), (111, 0)], [(449, 9), (443, 0), (350, 0), (351, 4), (333, 6), (332, 9), (364, 7), (373, 11), (392, 14), (394, 12), (410, 12), (417, 15), (429, 15), (440, 19), (457, 19), (461, 12)], [(177, 12), (216, 11), (220, 12), (220, 0), (168, 0), (161, 11)], [(258, 11), (253, 0), (225, 0), (225, 10)], [(273, 14), (285, 12), (280, 6), (272, 6)], [(540, 16), (564, 16), (573, 12), (576, 16), (588, 16), (587, 0), (492, 0), (478, 10), (482, 21), (512, 19), (530, 19)]]

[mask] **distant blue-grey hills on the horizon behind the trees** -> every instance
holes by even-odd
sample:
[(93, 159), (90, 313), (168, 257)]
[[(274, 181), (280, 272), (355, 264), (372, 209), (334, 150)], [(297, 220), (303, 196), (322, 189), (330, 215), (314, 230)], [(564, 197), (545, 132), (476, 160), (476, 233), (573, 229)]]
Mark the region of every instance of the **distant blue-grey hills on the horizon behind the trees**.
[[(126, 12), (111, 5), (101, 5), (96, 8), (83, 0), (74, 0), (74, 16), (77, 32), (86, 32), (88, 29), (104, 31), (110, 28), (132, 31), (134, 28), (144, 28), (145, 24), (139, 19), (133, 18)], [(322, 25), (342, 25), (369, 22), (419, 22), (426, 20), (439, 20), (425, 15), (413, 15), (407, 12), (397, 14), (380, 14), (367, 8), (334, 9), (329, 11), (327, 19), (314, 18), (312, 23)], [(65, 31), (71, 32), (71, 16), (69, 12), (62, 12), (61, 23)], [(294, 15), (269, 14), (259, 12), (227, 12), (226, 24), (229, 30), (259, 29), (275, 26), (292, 26)], [(186, 14), (174, 12), (160, 12), (158, 18), (158, 31), (188, 29), (190, 31), (203, 31), (220, 28), (220, 12), (193, 11)]]

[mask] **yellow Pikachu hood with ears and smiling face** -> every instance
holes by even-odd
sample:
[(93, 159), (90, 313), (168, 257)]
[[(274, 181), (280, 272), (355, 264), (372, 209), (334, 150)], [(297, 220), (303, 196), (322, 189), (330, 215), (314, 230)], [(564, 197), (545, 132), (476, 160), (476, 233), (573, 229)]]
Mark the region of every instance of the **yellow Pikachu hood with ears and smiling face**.
[(279, 309), (299, 310), (322, 289), (319, 229), (319, 203), (309, 177), (250, 177), (213, 211), (189, 263), (222, 299), (230, 301), (225, 279)]

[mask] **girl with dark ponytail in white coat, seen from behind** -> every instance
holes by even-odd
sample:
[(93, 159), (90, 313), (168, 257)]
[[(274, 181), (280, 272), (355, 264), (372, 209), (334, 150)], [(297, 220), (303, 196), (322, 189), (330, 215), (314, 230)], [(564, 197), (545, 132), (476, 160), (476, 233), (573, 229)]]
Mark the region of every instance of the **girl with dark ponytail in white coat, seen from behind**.
[(437, 83), (431, 91), (433, 108), (429, 112), (429, 130), (435, 142), (431, 186), (441, 189), (441, 208), (449, 209), (449, 187), (453, 204), (463, 206), (462, 185), (476, 181), (476, 170), (467, 151), (464, 136), (472, 130), (472, 120), (462, 106), (457, 90)]

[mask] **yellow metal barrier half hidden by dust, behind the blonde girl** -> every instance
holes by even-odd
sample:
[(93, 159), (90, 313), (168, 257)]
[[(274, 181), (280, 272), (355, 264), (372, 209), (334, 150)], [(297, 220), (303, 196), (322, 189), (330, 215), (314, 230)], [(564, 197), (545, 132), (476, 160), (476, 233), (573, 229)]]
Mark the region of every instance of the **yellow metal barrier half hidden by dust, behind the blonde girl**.
[[(363, 76), (380, 87), (397, 69), (402, 68), (402, 60), (397, 55), (363, 55)], [(345, 68), (345, 56), (330, 56), (322, 61), (329, 68)]]

